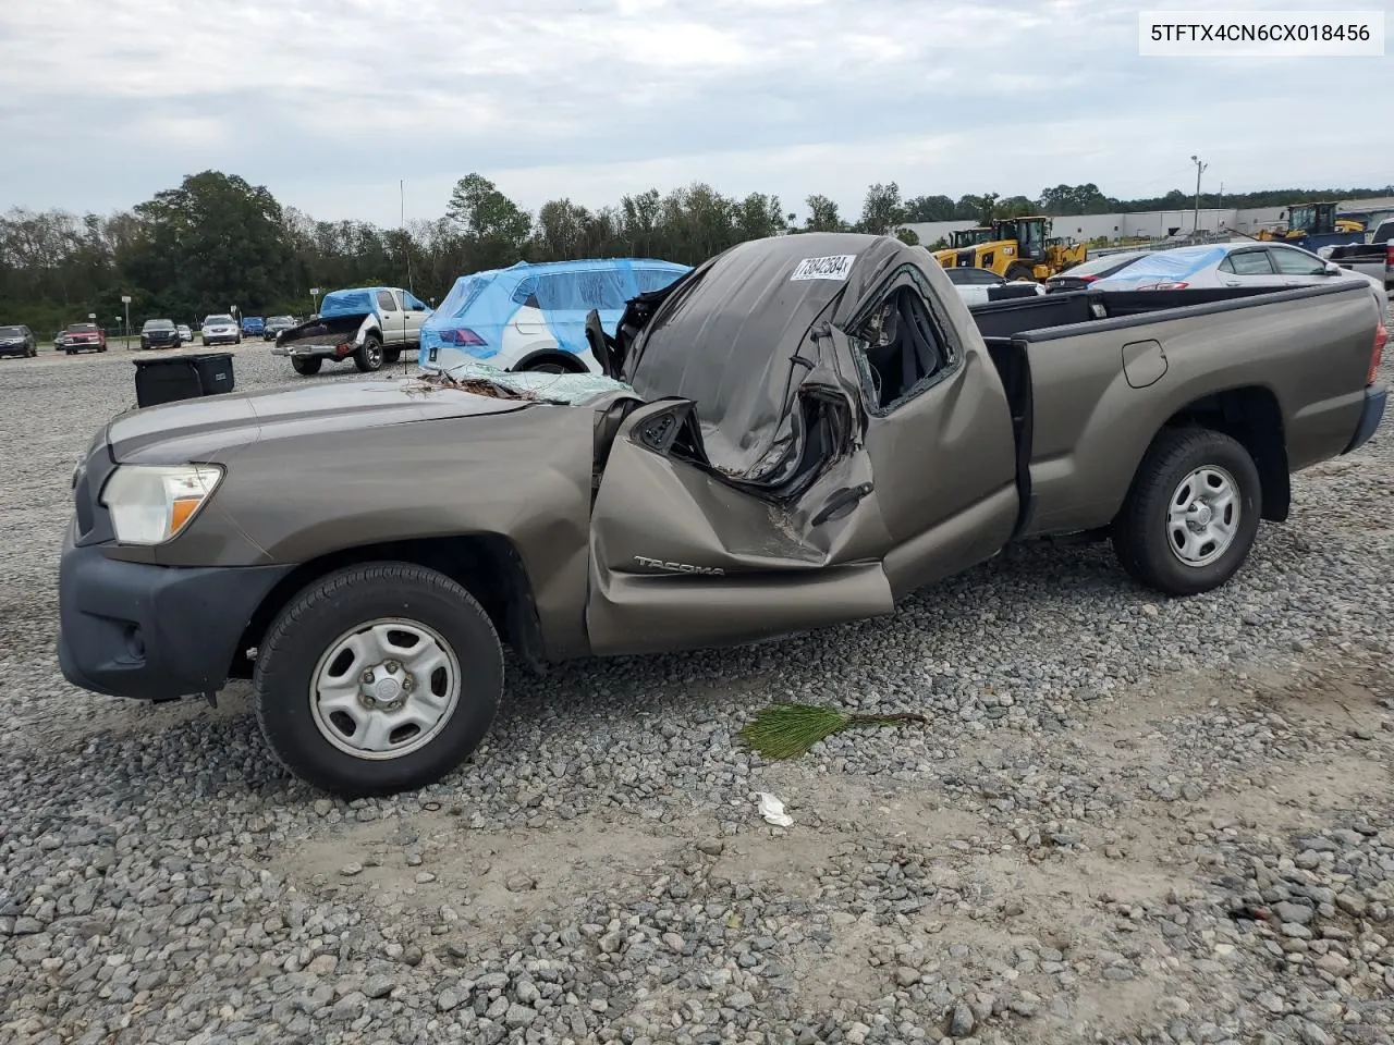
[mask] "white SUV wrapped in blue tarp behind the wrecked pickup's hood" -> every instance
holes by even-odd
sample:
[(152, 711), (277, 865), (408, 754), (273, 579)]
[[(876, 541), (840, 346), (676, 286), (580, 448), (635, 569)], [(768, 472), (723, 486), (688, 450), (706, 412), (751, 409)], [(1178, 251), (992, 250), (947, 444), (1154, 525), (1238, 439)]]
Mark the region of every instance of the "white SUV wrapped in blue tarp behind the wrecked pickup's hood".
[(597, 258), (519, 262), (461, 276), (421, 325), (420, 364), (447, 369), (477, 359), (510, 368), (533, 351), (590, 358), (585, 316), (591, 309), (613, 334), (631, 298), (687, 272), (689, 265), (652, 258)]

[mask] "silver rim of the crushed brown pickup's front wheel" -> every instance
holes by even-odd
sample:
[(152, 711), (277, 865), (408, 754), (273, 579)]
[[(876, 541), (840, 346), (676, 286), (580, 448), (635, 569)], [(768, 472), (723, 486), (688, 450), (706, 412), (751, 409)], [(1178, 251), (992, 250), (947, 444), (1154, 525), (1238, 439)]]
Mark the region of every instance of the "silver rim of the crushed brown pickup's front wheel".
[(329, 644), (309, 683), (321, 736), (354, 758), (420, 751), (454, 715), (460, 662), (435, 628), (381, 617)]

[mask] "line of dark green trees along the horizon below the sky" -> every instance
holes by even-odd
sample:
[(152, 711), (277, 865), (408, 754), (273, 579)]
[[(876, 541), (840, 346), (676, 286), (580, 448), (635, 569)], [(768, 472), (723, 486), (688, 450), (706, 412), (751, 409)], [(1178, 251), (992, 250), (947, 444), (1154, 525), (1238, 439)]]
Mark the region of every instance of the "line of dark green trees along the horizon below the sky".
[[(1302, 199), (1394, 194), (1394, 185), (1228, 194), (1231, 206), (1281, 206)], [(1217, 206), (1203, 195), (1202, 206)], [(432, 302), (456, 277), (512, 265), (572, 258), (648, 256), (696, 265), (744, 240), (804, 231), (895, 233), (905, 223), (984, 220), (1023, 213), (1075, 215), (1168, 210), (1195, 205), (1172, 189), (1115, 199), (1097, 185), (1057, 185), (1037, 199), (997, 194), (902, 198), (894, 181), (867, 188), (861, 213), (843, 217), (824, 195), (806, 215), (779, 196), (725, 196), (694, 183), (651, 188), (587, 208), (552, 199), (531, 213), (481, 174), (460, 178), (445, 215), (382, 229), (323, 222), (284, 206), (263, 185), (220, 171), (184, 178), (131, 210), (106, 216), (10, 209), (0, 216), (0, 325), (26, 323), (40, 336), (89, 314), (118, 326), (131, 298), (132, 326), (148, 318), (197, 322), (236, 305), (245, 315), (305, 315), (311, 287), (404, 286)]]

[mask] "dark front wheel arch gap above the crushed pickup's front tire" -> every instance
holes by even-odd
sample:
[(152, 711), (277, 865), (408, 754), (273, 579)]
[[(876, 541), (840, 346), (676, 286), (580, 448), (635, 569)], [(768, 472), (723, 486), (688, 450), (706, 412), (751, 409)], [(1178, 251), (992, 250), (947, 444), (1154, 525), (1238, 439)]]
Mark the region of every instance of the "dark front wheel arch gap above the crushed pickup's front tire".
[(357, 545), (301, 563), (266, 594), (252, 613), (233, 653), (229, 677), (251, 677), (252, 660), (245, 651), (261, 644), (272, 621), (297, 592), (336, 570), (371, 562), (413, 563), (456, 581), (478, 599), (500, 640), (533, 670), (542, 670), (542, 628), (517, 549), (498, 534), (470, 534)]

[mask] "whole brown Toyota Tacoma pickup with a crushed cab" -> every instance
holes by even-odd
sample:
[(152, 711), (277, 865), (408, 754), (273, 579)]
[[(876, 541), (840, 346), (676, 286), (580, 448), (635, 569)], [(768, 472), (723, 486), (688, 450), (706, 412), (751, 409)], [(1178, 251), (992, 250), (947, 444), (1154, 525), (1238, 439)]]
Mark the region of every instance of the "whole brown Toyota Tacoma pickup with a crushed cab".
[[(1223, 585), (1289, 474), (1384, 408), (1368, 287), (976, 308), (889, 237), (744, 242), (588, 339), (608, 376), (237, 393), (121, 414), (74, 478), (59, 658), (95, 692), (251, 679), (344, 796), (439, 780), (542, 670), (891, 613), (1022, 538)], [(293, 461), (294, 467), (287, 467)]]

